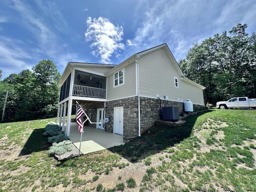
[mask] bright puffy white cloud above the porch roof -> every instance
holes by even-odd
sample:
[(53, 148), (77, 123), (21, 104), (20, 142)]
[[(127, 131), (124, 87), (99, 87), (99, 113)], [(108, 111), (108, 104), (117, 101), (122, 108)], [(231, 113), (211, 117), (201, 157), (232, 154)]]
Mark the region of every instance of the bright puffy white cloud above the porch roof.
[(85, 32), (86, 41), (92, 42), (90, 47), (92, 54), (100, 57), (100, 62), (111, 63), (110, 58), (118, 56), (120, 50), (124, 49), (122, 41), (122, 26), (114, 26), (107, 18), (99, 17), (86, 21), (87, 30)]

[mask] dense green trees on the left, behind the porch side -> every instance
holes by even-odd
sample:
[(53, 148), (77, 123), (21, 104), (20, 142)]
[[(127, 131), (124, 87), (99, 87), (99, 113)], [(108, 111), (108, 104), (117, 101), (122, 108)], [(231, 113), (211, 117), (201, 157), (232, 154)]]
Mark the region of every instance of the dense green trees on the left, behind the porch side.
[(2, 122), (56, 117), (60, 77), (54, 62), (42, 60), (32, 67), (32, 71), (22, 70), (19, 74), (10, 74), (1, 80), (0, 120), (7, 90), (8, 97)]

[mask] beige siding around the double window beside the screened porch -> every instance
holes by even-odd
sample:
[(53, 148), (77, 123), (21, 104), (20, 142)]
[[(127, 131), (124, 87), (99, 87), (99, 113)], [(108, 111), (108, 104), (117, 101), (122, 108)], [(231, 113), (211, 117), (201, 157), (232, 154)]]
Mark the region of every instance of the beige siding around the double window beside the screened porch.
[(114, 74), (118, 71), (114, 71), (107, 77), (107, 100), (115, 100), (119, 98), (126, 98), (134, 96), (136, 94), (136, 68), (135, 62), (124, 68), (124, 82), (122, 86), (114, 85)]

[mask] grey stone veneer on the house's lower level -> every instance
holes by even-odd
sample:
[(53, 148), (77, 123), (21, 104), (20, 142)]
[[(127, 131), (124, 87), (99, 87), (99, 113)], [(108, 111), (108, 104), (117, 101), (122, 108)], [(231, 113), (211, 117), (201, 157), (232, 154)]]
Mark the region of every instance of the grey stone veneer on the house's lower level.
[[(179, 114), (184, 113), (183, 102), (161, 100), (161, 107), (167, 106), (178, 107)], [(193, 104), (194, 108), (199, 106), (200, 105)], [(105, 111), (105, 117), (110, 118), (108, 124), (112, 126), (112, 133), (114, 129), (114, 107), (124, 108), (124, 137), (138, 136), (138, 96), (106, 102), (107, 110)], [(83, 109), (86, 110), (87, 114), (89, 109), (92, 110), (92, 122), (96, 122), (97, 108), (104, 108), (104, 102), (94, 102), (83, 106)], [(154, 122), (158, 120), (160, 120), (160, 100), (156, 98), (140, 97), (140, 134), (153, 126)], [(89, 125), (96, 128), (96, 124), (89, 123)]]

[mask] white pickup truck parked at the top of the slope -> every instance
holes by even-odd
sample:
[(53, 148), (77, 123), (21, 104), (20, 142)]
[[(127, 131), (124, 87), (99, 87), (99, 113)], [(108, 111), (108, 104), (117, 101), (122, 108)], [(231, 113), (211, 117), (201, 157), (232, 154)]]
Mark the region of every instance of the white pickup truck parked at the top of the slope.
[(249, 99), (248, 97), (236, 97), (228, 101), (219, 101), (216, 103), (216, 108), (220, 109), (256, 109), (256, 99)]

